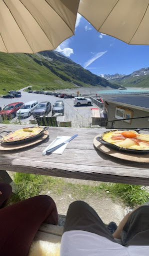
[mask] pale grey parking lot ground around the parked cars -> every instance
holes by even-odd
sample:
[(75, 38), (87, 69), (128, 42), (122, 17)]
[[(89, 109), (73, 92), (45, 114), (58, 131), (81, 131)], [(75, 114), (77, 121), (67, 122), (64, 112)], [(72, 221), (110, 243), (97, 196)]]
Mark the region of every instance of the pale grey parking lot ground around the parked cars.
[[(80, 114), (85, 117), (85, 118), (90, 118), (91, 117), (91, 107), (96, 107), (94, 104), (91, 106), (87, 105), (81, 105), (81, 106), (74, 106), (73, 105), (73, 99), (63, 99), (59, 97), (55, 97), (52, 95), (45, 95), (45, 94), (36, 94), (36, 93), (28, 93), (24, 92), (23, 89), (21, 91), (21, 97), (20, 98), (0, 98), (0, 106), (3, 108), (5, 105), (13, 102), (27, 102), (31, 100), (37, 100), (38, 103), (41, 101), (50, 101), (51, 106), (54, 104), (56, 100), (63, 100), (64, 102), (64, 116), (66, 117), (67, 120), (70, 120), (72, 118), (80, 118)], [(48, 116), (51, 116), (51, 111), (49, 112)], [(14, 120), (17, 119), (16, 117)], [(33, 119), (33, 116), (31, 115), (30, 117), (26, 117), (21, 119), (22, 123), (28, 123), (29, 120)]]

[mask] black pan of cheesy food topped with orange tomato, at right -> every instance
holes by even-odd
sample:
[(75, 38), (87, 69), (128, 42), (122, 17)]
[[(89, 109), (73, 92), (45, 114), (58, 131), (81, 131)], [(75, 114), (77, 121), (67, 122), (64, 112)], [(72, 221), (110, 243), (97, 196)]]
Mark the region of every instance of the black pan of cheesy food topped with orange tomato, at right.
[(139, 131), (145, 129), (136, 129), (133, 131), (111, 130), (96, 137), (96, 140), (110, 149), (124, 151), (134, 154), (149, 153), (149, 135), (139, 134)]

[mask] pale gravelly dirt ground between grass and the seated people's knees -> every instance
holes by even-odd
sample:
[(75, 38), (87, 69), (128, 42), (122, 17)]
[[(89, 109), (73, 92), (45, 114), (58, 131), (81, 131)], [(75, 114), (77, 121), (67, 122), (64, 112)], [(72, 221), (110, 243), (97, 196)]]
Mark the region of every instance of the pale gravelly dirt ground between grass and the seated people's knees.
[[(71, 182), (72, 184), (90, 186), (99, 185), (99, 182), (96, 181), (84, 181), (68, 178), (65, 178), (64, 181), (68, 183)], [(58, 213), (63, 215), (66, 215), (70, 203), (76, 200), (80, 200), (79, 194), (77, 195), (77, 193), (71, 193), (69, 191), (55, 194), (54, 191), (50, 190), (46, 194), (53, 198), (56, 203)], [(118, 201), (114, 202), (110, 197), (106, 195), (106, 192), (103, 193), (100, 197), (86, 194), (83, 201), (88, 203), (97, 212), (105, 224), (108, 224), (110, 221), (114, 221), (116, 224), (118, 224), (128, 210), (125, 205), (123, 205), (123, 203)]]

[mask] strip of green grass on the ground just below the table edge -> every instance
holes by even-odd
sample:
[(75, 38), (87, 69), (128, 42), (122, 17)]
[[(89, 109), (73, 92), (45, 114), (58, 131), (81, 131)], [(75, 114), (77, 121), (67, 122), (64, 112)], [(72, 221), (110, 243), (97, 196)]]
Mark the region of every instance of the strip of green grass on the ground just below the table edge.
[(71, 194), (75, 200), (84, 200), (86, 196), (100, 198), (102, 195), (106, 195), (115, 202), (122, 201), (129, 207), (141, 205), (149, 200), (146, 187), (139, 185), (100, 183), (99, 186), (89, 186), (67, 183), (62, 178), (24, 173), (14, 173), (13, 180), (18, 188), (16, 194), (11, 196), (9, 204), (47, 193), (49, 190), (51, 194), (59, 196), (66, 193)]

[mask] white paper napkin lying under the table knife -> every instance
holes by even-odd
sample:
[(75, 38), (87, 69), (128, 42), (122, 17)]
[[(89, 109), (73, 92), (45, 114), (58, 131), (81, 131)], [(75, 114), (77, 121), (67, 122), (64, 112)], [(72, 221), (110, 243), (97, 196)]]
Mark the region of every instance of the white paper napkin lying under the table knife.
[[(46, 155), (46, 151), (54, 148), (55, 146), (65, 142), (66, 140), (70, 139), (70, 136), (61, 136), (61, 137), (57, 137), (49, 146), (47, 146), (43, 152), (42, 155)], [(67, 146), (68, 142), (66, 144), (64, 144), (63, 146), (61, 146), (59, 149), (55, 150), (54, 152), (52, 152), (51, 154), (59, 154), (61, 155), (63, 153), (63, 151), (65, 150), (66, 146)]]

